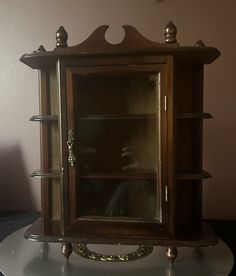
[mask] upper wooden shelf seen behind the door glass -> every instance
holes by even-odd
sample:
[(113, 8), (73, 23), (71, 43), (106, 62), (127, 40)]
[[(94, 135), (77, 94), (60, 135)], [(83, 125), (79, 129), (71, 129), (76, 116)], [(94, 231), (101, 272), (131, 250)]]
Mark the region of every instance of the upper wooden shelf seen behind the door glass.
[(81, 116), (80, 120), (139, 120), (156, 119), (155, 114), (104, 114)]

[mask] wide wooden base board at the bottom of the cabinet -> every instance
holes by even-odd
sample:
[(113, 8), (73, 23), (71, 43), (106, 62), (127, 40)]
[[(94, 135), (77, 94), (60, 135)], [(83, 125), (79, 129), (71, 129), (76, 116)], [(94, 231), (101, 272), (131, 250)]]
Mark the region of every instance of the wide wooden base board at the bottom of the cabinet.
[[(151, 236), (145, 238), (132, 237), (123, 238), (122, 236), (116, 237), (110, 232), (110, 237), (100, 235), (92, 236), (85, 233), (81, 235), (66, 235), (61, 234), (61, 223), (60, 221), (48, 221), (47, 229), (43, 229), (42, 219), (38, 219), (34, 222), (24, 233), (24, 237), (31, 241), (39, 242), (84, 242), (91, 244), (144, 244), (144, 245), (159, 245), (159, 246), (178, 246), (178, 247), (199, 247), (199, 246), (210, 246), (216, 245), (218, 242), (217, 236), (211, 230), (211, 228), (205, 223), (200, 223), (199, 233), (192, 233), (187, 231), (185, 235), (177, 235), (175, 239), (170, 236), (166, 231), (162, 231), (158, 236)], [(86, 228), (85, 228), (86, 229)], [(186, 227), (185, 227), (186, 229)], [(186, 232), (186, 230), (185, 230)], [(108, 240), (109, 238), (109, 240)]]

